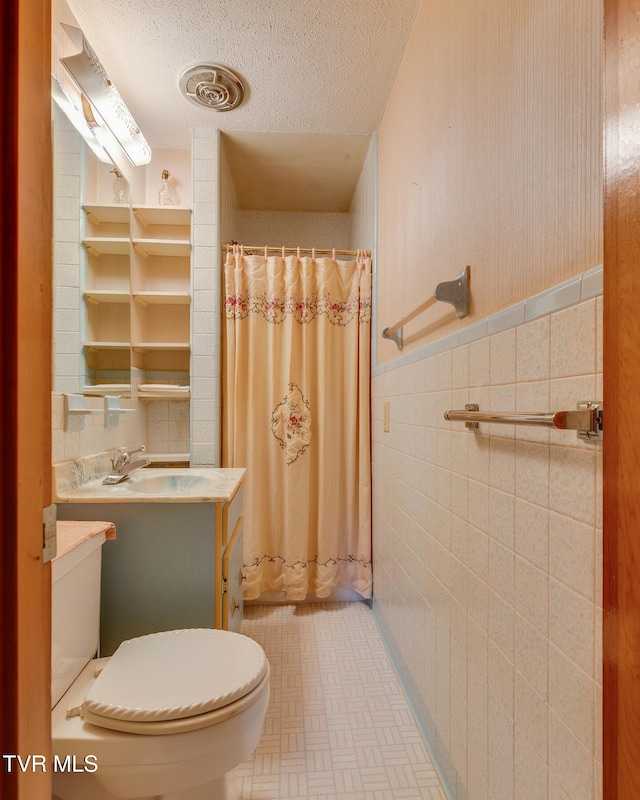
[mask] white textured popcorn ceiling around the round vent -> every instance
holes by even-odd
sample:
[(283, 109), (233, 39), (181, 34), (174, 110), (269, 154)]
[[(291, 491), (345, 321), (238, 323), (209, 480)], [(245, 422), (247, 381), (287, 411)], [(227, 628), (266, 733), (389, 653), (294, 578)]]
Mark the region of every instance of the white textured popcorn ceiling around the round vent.
[[(377, 130), (420, 0), (67, 0), (154, 148), (192, 127)], [(224, 113), (188, 102), (182, 72), (217, 63), (248, 87)]]

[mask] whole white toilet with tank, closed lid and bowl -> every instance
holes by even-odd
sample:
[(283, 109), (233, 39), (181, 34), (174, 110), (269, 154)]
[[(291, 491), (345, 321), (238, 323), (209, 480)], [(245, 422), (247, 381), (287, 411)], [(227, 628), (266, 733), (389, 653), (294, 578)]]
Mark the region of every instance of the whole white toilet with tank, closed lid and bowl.
[(247, 636), (185, 629), (98, 645), (98, 534), (52, 563), (52, 769), (59, 800), (237, 800), (269, 662)]

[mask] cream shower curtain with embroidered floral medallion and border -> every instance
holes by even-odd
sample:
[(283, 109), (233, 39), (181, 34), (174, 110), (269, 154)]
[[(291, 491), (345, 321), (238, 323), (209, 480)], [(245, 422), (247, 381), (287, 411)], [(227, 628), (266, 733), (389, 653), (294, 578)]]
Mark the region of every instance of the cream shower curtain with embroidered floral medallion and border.
[(247, 470), (244, 597), (368, 598), (371, 260), (236, 247), (224, 288), (222, 463)]

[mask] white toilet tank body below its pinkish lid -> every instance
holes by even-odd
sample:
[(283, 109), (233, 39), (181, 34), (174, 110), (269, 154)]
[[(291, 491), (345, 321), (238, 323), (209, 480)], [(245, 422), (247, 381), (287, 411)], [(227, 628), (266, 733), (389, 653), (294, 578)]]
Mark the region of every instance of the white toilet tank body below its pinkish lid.
[(51, 562), (52, 708), (98, 650), (105, 538), (92, 536)]

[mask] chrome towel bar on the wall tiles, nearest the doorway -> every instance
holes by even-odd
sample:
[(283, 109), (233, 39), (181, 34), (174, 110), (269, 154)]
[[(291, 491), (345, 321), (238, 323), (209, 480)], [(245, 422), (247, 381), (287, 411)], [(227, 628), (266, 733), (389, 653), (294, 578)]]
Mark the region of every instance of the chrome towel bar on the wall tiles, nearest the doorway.
[(467, 428), (477, 428), (481, 422), (498, 422), (502, 425), (537, 425), (577, 431), (580, 439), (602, 439), (602, 403), (599, 400), (579, 402), (575, 411), (552, 411), (549, 413), (492, 413), (479, 411), (477, 403), (467, 403), (464, 410), (445, 411), (444, 418), (452, 422), (464, 422)]

